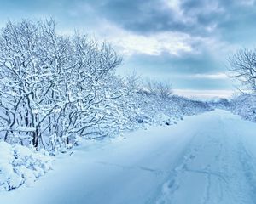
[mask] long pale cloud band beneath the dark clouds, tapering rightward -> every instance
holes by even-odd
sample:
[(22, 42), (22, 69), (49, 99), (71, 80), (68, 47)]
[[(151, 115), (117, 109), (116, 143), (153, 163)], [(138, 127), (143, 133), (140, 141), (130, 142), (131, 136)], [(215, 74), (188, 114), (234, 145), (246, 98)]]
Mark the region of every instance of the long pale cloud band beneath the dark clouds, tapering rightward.
[(96, 27), (93, 31), (93, 36), (102, 41), (111, 42), (120, 53), (125, 55), (160, 56), (161, 54), (170, 54), (183, 57), (189, 54), (189, 56), (194, 55), (194, 58), (205, 58), (203, 55), (209, 53), (213, 55), (215, 53), (218, 55), (220, 53), (226, 54), (234, 49), (229, 44), (218, 41), (218, 39), (195, 37), (181, 31), (160, 31), (149, 34), (127, 31), (109, 20), (101, 20), (101, 26)]

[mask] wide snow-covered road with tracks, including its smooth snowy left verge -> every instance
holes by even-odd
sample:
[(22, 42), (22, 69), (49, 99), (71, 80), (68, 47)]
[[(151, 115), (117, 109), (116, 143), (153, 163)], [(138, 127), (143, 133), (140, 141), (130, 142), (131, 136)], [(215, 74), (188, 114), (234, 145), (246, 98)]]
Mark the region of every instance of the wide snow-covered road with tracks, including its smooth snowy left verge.
[(217, 110), (88, 144), (0, 203), (256, 203), (256, 124)]

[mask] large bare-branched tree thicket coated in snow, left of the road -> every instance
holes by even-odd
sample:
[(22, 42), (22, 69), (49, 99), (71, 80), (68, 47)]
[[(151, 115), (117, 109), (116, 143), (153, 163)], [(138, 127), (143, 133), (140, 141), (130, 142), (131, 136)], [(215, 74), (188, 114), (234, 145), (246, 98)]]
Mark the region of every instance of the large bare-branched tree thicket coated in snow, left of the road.
[(121, 60), (107, 43), (57, 35), (54, 20), (9, 22), (0, 35), (2, 138), (55, 149), (108, 130), (123, 95)]

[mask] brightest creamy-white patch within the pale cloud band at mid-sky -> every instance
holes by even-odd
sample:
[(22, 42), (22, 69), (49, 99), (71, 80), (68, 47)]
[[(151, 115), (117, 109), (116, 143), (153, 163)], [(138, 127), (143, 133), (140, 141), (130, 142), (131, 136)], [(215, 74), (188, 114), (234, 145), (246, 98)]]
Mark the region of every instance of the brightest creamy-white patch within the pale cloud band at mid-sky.
[(154, 35), (143, 36), (129, 31), (117, 31), (108, 37), (108, 42), (125, 54), (179, 55), (192, 52), (190, 37), (184, 33), (161, 32)]

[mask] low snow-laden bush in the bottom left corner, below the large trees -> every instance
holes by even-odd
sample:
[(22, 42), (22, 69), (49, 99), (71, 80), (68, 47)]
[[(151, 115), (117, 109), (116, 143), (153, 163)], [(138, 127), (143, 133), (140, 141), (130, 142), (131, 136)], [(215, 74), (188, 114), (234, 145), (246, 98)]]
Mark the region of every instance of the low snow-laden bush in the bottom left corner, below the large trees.
[(52, 158), (44, 150), (37, 152), (0, 140), (0, 191), (32, 185), (51, 169), (51, 163)]

